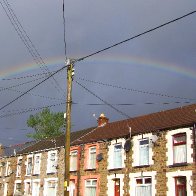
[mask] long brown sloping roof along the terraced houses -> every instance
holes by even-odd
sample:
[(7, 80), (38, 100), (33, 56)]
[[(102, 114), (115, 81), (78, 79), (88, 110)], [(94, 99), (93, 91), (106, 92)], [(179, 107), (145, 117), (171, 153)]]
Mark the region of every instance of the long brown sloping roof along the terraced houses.
[[(103, 127), (72, 132), (71, 145), (127, 137), (129, 135), (129, 127), (131, 127), (131, 134), (136, 135), (193, 126), (194, 123), (196, 123), (196, 104), (111, 122)], [(19, 151), (18, 154), (64, 146), (64, 140), (64, 136), (57, 137), (55, 141), (42, 140)]]

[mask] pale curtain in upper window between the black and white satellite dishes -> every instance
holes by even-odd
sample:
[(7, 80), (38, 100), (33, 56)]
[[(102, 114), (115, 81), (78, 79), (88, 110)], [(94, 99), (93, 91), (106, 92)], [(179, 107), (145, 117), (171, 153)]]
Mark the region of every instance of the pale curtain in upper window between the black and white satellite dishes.
[(149, 146), (140, 145), (139, 149), (139, 165), (148, 165), (149, 164)]

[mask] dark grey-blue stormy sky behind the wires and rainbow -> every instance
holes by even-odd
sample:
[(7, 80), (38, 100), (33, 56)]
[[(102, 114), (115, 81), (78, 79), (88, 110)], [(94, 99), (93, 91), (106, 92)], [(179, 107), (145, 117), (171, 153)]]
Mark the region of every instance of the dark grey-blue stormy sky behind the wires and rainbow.
[[(196, 10), (195, 0), (65, 0), (64, 5), (71, 59)], [(43, 73), (65, 66), (63, 0), (0, 0), (0, 25), (2, 108), (42, 81)], [(195, 34), (196, 13), (75, 63), (72, 131), (96, 126), (101, 113), (113, 122), (195, 103)], [(126, 115), (94, 105), (103, 102), (76, 81)], [(0, 143), (29, 141), (28, 117), (46, 106), (64, 112), (65, 101), (66, 69), (0, 110)]]

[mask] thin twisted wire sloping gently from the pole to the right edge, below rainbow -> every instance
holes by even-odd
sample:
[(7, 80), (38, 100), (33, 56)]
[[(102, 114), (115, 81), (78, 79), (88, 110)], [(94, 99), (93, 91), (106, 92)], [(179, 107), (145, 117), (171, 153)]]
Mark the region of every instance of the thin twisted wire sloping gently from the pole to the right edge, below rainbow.
[(126, 87), (117, 86), (117, 85), (113, 85), (113, 84), (97, 82), (97, 81), (93, 81), (93, 80), (89, 80), (89, 79), (85, 79), (85, 78), (81, 78), (81, 77), (77, 77), (77, 79), (82, 80), (82, 81), (86, 81), (86, 82), (91, 82), (93, 84), (99, 84), (99, 85), (102, 85), (102, 86), (118, 88), (118, 89), (121, 89), (121, 90), (132, 91), (132, 92), (136, 92), (136, 93), (143, 93), (143, 94), (155, 95), (155, 96), (160, 96), (160, 97), (168, 97), (168, 98), (183, 99), (183, 100), (190, 100), (190, 101), (195, 101), (196, 100), (194, 98), (178, 97), (178, 96), (167, 95), (167, 94), (163, 94), (163, 93), (155, 93), (155, 92), (143, 91), (143, 90), (138, 90), (138, 89), (133, 89), (133, 88), (126, 88)]

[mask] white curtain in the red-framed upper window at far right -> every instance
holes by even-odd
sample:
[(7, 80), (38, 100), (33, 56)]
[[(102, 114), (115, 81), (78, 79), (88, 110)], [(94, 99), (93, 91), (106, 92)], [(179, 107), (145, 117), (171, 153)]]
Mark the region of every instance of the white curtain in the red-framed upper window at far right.
[(185, 163), (186, 157), (186, 145), (174, 146), (174, 163)]

